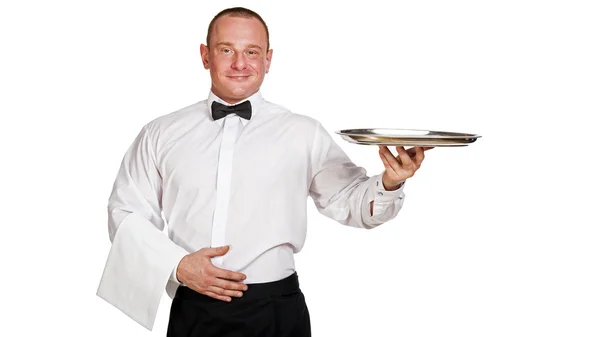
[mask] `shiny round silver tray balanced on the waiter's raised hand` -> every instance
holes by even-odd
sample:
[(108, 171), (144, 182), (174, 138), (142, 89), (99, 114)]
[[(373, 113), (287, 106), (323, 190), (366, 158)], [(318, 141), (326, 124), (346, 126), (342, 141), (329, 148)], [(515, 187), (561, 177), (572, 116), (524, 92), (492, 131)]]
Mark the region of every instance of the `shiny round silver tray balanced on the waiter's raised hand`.
[(471, 133), (386, 128), (346, 129), (336, 133), (350, 143), (387, 146), (467, 146), (481, 137)]

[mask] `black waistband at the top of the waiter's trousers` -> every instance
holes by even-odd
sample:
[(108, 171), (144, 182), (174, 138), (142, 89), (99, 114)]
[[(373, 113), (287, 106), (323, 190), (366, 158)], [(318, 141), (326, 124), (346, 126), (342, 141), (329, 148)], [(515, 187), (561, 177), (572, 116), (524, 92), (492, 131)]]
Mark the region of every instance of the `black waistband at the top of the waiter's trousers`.
[[(300, 291), (300, 283), (298, 281), (298, 273), (281, 279), (279, 281), (266, 283), (250, 283), (247, 284), (248, 290), (242, 291), (242, 297), (231, 297), (231, 302), (251, 301), (259, 298), (289, 295)], [(202, 301), (202, 302), (223, 302), (208, 295), (200, 294), (188, 287), (179, 286), (175, 297), (186, 300)]]

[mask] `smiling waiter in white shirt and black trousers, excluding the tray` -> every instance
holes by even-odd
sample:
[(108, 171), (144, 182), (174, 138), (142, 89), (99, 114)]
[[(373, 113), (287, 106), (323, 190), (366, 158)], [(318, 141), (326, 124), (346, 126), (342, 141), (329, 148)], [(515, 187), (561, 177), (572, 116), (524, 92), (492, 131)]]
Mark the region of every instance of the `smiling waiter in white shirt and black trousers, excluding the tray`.
[(98, 296), (151, 330), (166, 286), (173, 337), (310, 336), (293, 257), (306, 199), (374, 228), (398, 214), (427, 148), (380, 147), (385, 171), (368, 177), (319, 122), (264, 100), (272, 50), (248, 9), (217, 14), (200, 53), (208, 99), (146, 124), (123, 158)]

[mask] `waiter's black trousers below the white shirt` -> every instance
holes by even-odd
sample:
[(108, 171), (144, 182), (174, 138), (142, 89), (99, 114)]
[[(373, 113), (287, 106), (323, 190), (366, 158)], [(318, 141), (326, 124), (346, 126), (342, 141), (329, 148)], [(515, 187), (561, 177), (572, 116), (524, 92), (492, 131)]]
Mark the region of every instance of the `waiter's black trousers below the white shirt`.
[(310, 337), (310, 316), (298, 275), (248, 284), (224, 302), (188, 287), (177, 289), (167, 337)]

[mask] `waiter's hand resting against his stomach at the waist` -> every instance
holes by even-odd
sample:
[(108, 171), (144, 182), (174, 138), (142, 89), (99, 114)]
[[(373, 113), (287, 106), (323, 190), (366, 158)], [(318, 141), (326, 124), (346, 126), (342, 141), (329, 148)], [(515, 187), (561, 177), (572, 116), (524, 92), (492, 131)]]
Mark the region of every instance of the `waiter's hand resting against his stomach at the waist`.
[(246, 275), (215, 267), (211, 261), (227, 251), (229, 246), (202, 248), (184, 256), (177, 266), (177, 279), (188, 288), (221, 301), (241, 297), (248, 286), (239, 281), (245, 280)]

